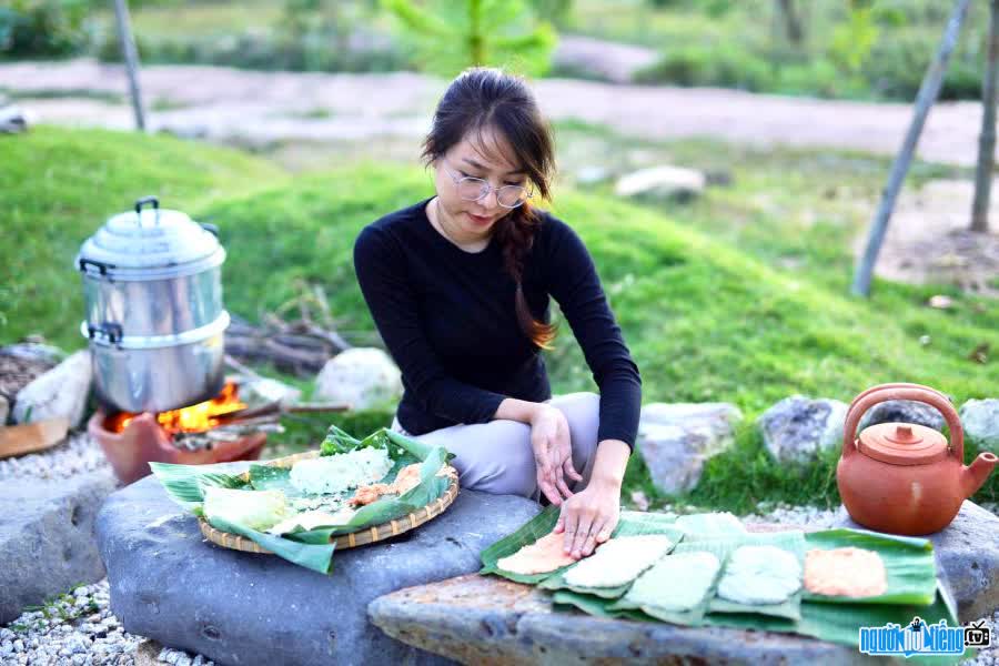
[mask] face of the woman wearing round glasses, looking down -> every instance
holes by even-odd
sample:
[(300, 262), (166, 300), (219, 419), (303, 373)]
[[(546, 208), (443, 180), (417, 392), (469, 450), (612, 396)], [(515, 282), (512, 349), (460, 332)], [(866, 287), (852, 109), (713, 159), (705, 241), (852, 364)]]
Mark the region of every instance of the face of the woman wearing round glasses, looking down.
[[(481, 239), (490, 235), (493, 225), (512, 209), (496, 201), (495, 188), (526, 185), (526, 172), (515, 163), (514, 151), (500, 133), (491, 128), (466, 135), (434, 162), (434, 185), (442, 209), (443, 222), (452, 235)], [(488, 181), (492, 192), (478, 201), (458, 196), (455, 181), (465, 176)]]

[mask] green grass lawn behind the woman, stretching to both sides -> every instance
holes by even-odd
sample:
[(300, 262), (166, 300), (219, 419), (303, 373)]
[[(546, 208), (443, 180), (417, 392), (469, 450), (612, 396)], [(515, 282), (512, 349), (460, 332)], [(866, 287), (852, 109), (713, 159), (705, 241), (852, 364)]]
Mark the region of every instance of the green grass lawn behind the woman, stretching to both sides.
[[(574, 131), (587, 130), (559, 128), (563, 139)], [(705, 168), (724, 161), (717, 145), (668, 150)], [(981, 341), (999, 346), (999, 309), (950, 291), (957, 305), (937, 311), (924, 303), (938, 290), (881, 281), (869, 301), (846, 295), (848, 239), (864, 223), (850, 201), (879, 186), (884, 161), (730, 150), (739, 158), (727, 162), (734, 184), (709, 189), (692, 205), (638, 205), (598, 188), (563, 186), (554, 212), (595, 258), (642, 370), (644, 401), (724, 401), (746, 414), (735, 448), (710, 461), (683, 501), (737, 512), (760, 501), (833, 504), (835, 452), (805, 468), (775, 465), (753, 427), (759, 413), (790, 394), (849, 401), (888, 381), (929, 384), (958, 403), (988, 396), (993, 363), (973, 363), (967, 353)], [(353, 274), (353, 240), (363, 225), (431, 193), (430, 176), (417, 168), (356, 164), (290, 181), (232, 151), (112, 132), (41, 129), (0, 142), (0, 163), (16, 165), (0, 174), (10, 238), (0, 245), (10, 271), (0, 281), (0, 343), (39, 331), (69, 349), (82, 346), (72, 256), (108, 214), (147, 192), (220, 224), (232, 312), (256, 319), (305, 280), (325, 289), (334, 316), (367, 344), (374, 327)], [(916, 180), (940, 173), (920, 165)], [(828, 188), (856, 192), (830, 199)], [(785, 268), (788, 255), (797, 259), (793, 270)], [(927, 333), (932, 344), (922, 345)], [(548, 365), (556, 392), (594, 390), (564, 323)], [(354, 426), (363, 431), (386, 416), (364, 418)], [(290, 433), (279, 441), (293, 450), (314, 445), (326, 422), (285, 425)], [(978, 498), (995, 500), (997, 487), (992, 481)], [(624, 496), (638, 488), (666, 500), (635, 456)]]

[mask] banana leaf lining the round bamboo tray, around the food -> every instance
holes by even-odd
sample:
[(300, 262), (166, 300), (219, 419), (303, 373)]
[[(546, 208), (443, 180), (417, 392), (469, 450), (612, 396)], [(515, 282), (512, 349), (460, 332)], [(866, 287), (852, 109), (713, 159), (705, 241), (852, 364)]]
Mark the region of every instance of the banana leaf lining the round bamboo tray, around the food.
[[(451, 483), (448, 477), (437, 476), (437, 472), (441, 471), (446, 461), (453, 457), (446, 450), (441, 446), (427, 446), (397, 433), (386, 433), (389, 431), (382, 428), (375, 433), (375, 435), (380, 435), (379, 437), (371, 435), (362, 442), (367, 442), (365, 445), (387, 445), (391, 443), (394, 446), (390, 447), (390, 455), (422, 461), (420, 484), (402, 496), (383, 496), (355, 512), (344, 525), (323, 526), (309, 531), (300, 527), (299, 531), (283, 536), (275, 536), (243, 525), (233, 525), (232, 523), (224, 523), (223, 526), (223, 522), (218, 518), (215, 518), (215, 523), (218, 523), (215, 526), (225, 532), (245, 536), (290, 562), (313, 571), (329, 573), (332, 568), (331, 558), (334, 549), (333, 544), (330, 543), (331, 537), (356, 532), (413, 513), (440, 498)], [(400, 454), (400, 452), (402, 453)], [(201, 490), (202, 484), (222, 485), (224, 487), (250, 487), (239, 476), (213, 472), (211, 465), (151, 463), (151, 467), (171, 498), (195, 515), (201, 515), (201, 503), (204, 500)]]

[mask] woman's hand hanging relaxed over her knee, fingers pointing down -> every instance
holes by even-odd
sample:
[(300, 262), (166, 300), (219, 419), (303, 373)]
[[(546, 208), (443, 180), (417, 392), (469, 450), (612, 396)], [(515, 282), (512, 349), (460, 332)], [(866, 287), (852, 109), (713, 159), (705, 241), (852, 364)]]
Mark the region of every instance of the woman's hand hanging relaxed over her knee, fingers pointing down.
[(531, 446), (537, 467), (537, 485), (555, 506), (572, 497), (566, 477), (582, 481), (573, 467), (573, 447), (568, 421), (556, 407), (538, 403), (531, 417)]

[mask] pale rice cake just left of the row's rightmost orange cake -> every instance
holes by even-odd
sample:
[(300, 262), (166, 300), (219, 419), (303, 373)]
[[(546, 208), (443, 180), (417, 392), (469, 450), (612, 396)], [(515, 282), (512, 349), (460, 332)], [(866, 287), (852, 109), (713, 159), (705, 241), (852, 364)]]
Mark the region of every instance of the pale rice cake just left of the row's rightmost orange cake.
[(725, 565), (718, 596), (759, 606), (786, 602), (801, 587), (801, 564), (794, 553), (776, 546), (741, 546)]

